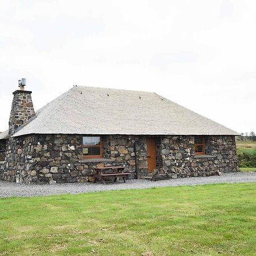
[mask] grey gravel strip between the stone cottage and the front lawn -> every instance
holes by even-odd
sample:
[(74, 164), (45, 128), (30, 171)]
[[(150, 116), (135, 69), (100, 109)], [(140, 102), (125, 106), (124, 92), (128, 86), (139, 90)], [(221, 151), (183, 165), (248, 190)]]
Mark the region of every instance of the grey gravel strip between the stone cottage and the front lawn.
[(189, 177), (173, 180), (127, 180), (126, 183), (117, 181), (117, 183), (101, 182), (93, 183), (64, 183), (54, 185), (24, 185), (6, 181), (0, 181), (0, 197), (11, 196), (47, 196), (60, 195), (64, 193), (86, 193), (95, 191), (110, 191), (117, 189), (137, 189), (152, 187), (176, 187), (180, 185), (201, 185), (217, 183), (242, 183), (256, 182), (256, 172), (236, 172), (222, 174), (221, 176), (210, 177)]

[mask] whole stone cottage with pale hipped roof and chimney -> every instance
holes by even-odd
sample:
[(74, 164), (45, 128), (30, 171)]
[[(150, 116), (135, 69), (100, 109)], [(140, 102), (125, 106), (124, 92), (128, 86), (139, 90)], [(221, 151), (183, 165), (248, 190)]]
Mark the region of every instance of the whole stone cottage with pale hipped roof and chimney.
[(238, 135), (152, 92), (73, 86), (34, 111), (24, 84), (0, 134), (0, 179), (85, 182), (96, 166), (153, 180), (236, 172)]

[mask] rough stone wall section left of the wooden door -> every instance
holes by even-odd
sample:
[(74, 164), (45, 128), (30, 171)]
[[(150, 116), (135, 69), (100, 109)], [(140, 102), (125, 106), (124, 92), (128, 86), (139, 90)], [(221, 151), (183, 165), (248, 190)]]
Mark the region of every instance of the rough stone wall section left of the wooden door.
[[(102, 136), (104, 159), (83, 159), (82, 135), (26, 135), (12, 138), (2, 180), (26, 184), (85, 182), (96, 166), (123, 166), (135, 172), (135, 136)], [(138, 169), (147, 172), (146, 141), (138, 142)]]

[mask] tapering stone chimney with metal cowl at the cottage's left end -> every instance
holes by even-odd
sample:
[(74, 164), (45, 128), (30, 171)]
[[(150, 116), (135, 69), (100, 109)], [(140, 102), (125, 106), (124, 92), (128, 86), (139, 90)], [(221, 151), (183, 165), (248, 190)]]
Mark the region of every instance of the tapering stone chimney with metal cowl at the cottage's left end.
[(31, 93), (24, 90), (26, 79), (19, 80), (19, 90), (13, 92), (13, 104), (11, 105), (11, 114), (9, 119), (9, 137), (11, 137), (19, 126), (26, 123), (34, 114), (34, 106)]

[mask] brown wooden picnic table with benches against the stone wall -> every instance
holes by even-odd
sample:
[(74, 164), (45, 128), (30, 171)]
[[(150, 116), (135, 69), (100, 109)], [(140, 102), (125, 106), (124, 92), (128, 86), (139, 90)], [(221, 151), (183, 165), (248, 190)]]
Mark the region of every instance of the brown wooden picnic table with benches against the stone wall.
[[(123, 166), (96, 167), (94, 168), (96, 174), (92, 175), (95, 178), (94, 183), (96, 183), (99, 177), (104, 184), (106, 184), (104, 179), (105, 177), (114, 177), (114, 182), (117, 181), (117, 177), (122, 177), (123, 182), (125, 183), (125, 178), (130, 174), (130, 172), (123, 172), (125, 168), (126, 167)], [(115, 170), (115, 172), (106, 172), (107, 170)]]

